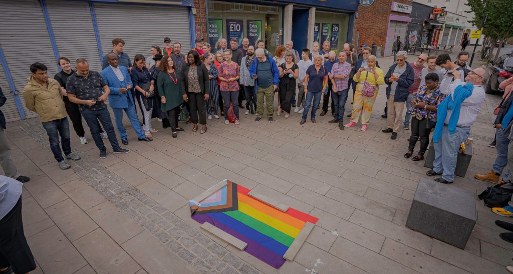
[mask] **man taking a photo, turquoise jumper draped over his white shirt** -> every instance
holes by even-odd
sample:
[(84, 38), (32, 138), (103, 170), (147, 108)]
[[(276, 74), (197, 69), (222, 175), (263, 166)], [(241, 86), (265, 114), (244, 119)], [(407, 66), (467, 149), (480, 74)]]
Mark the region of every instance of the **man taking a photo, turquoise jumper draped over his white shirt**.
[[(433, 162), (433, 169), (426, 172), (429, 176), (442, 175), (441, 178), (435, 181), (443, 184), (451, 184), (454, 182), (454, 171), (456, 169), (456, 161), (460, 144), (467, 140), (470, 133), (470, 127), (476, 122), (478, 113), (481, 110), (485, 99), (485, 92), (483, 83), (486, 83), (490, 77), (490, 72), (485, 68), (477, 68), (468, 73), (465, 77), (465, 82), (460, 80), (461, 71), (452, 69), (454, 74), (454, 82), (449, 85), (449, 94), (444, 104), (443, 101), (438, 106), (438, 118), (445, 119), (443, 125), (437, 123), (435, 133), (433, 133), (433, 142), (435, 146), (435, 161)], [(462, 92), (469, 87), (467, 84), (472, 84), (471, 94), (464, 100)], [(464, 98), (464, 97), (463, 97)], [(451, 102), (452, 101), (452, 102)], [(444, 107), (445, 105), (445, 107)], [(458, 110), (455, 112), (452, 110)], [(452, 115), (457, 115), (456, 119), (451, 119)], [(442, 122), (442, 121), (438, 121)]]

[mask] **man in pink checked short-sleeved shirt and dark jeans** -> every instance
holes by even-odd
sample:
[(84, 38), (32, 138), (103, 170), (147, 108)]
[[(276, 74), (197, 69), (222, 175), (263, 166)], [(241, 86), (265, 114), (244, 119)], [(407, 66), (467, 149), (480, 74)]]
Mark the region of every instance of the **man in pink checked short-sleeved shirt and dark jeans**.
[(344, 51), (339, 52), (339, 62), (333, 64), (331, 72), (328, 73), (329, 80), (333, 84), (331, 96), (333, 98), (335, 117), (328, 123), (339, 122), (340, 130), (344, 130), (344, 110), (349, 91), (348, 81), (351, 73), (351, 65), (346, 62), (347, 55)]

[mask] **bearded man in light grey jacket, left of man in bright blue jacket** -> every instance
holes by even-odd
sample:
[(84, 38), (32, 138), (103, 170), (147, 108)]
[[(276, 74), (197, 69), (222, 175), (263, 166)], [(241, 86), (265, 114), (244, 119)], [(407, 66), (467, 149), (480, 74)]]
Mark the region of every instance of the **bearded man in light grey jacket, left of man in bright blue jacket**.
[(249, 68), (251, 63), (254, 61), (254, 46), (248, 46), (247, 55), (242, 57), (241, 62), (241, 77), (239, 83), (241, 84), (244, 94), (246, 95), (246, 112), (245, 114), (255, 114), (257, 109), (257, 97), (254, 91), (255, 81), (251, 74), (249, 74)]

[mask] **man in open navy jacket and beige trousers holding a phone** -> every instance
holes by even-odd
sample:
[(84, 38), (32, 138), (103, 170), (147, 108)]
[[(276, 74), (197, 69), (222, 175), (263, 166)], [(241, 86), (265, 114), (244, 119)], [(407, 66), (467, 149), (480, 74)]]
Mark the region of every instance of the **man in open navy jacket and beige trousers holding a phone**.
[(415, 81), (413, 68), (406, 62), (408, 54), (401, 50), (397, 53), (396, 64), (393, 64), (385, 75), (386, 96), (388, 103), (388, 117), (386, 120), (387, 128), (382, 132), (392, 133), (390, 139), (397, 139), (397, 132), (401, 126), (403, 109), (408, 99), (408, 90)]

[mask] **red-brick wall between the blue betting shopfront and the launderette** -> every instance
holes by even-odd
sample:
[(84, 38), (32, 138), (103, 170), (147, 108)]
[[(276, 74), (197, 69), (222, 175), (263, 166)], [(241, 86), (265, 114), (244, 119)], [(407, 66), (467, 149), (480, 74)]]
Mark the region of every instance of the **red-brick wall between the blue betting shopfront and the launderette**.
[[(394, 0), (402, 4), (412, 5), (408, 0)], [(378, 56), (385, 51), (386, 34), (388, 30), (388, 16), (396, 14), (409, 17), (407, 13), (391, 11), (392, 0), (375, 1), (369, 7), (360, 5), (358, 7), (358, 18), (354, 24), (353, 41), (356, 41), (356, 33), (360, 32), (358, 44), (367, 44), (372, 47), (372, 42), (376, 42), (376, 46), (382, 45), (382, 52), (377, 52)], [(357, 46), (359, 46), (357, 45)]]

